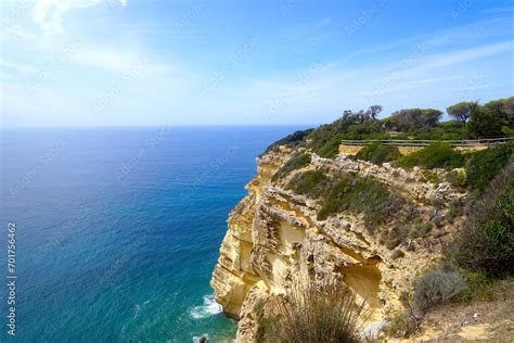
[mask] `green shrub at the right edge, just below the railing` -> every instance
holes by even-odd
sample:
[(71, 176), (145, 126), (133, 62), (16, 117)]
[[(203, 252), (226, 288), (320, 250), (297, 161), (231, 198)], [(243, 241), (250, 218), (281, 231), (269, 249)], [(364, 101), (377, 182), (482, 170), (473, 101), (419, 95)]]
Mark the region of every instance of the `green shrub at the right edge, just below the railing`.
[(484, 191), (506, 165), (513, 150), (512, 144), (504, 144), (468, 154), (466, 174), (470, 188)]

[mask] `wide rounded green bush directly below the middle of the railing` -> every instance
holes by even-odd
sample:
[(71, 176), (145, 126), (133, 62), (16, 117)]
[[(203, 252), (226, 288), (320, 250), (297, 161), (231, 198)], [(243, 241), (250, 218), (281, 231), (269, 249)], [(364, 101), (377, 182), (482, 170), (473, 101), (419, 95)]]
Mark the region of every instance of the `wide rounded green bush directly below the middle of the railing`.
[(398, 158), (397, 165), (403, 168), (413, 166), (432, 168), (459, 168), (464, 164), (464, 156), (450, 144), (436, 142), (412, 154)]

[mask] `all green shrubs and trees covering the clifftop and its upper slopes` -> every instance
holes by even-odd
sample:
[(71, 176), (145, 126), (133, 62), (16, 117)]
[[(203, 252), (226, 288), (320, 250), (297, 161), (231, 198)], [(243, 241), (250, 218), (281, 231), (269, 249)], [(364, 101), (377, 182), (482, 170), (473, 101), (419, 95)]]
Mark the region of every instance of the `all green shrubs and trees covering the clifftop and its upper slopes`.
[[(295, 132), (271, 145), (270, 150), (283, 143), (301, 148), (301, 153), (294, 154), (277, 172), (273, 181), (308, 166), (311, 152), (322, 157), (336, 156), (345, 139), (448, 140), (514, 135), (514, 98), (485, 105), (454, 104), (447, 109), (453, 119), (445, 123), (439, 122), (442, 113), (438, 110), (402, 110), (382, 120), (376, 119), (380, 110), (373, 106), (358, 113), (345, 111), (330, 125)], [(407, 338), (420, 327), (424, 314), (439, 304), (492, 300), (491, 284), (514, 274), (514, 144), (461, 152), (448, 143), (434, 142), (402, 156), (393, 145), (372, 143), (355, 158), (377, 165), (388, 162), (406, 169), (420, 167), (425, 181), (446, 181), (458, 192), (468, 192), (466, 204), (458, 200), (441, 209), (441, 203), (434, 202), (434, 211), (427, 216), (377, 179), (344, 170), (309, 168), (296, 173), (285, 185), (286, 189), (318, 201), (318, 220), (344, 212), (362, 215), (368, 231), (376, 233), (378, 242), (391, 251), (393, 261), (415, 249), (411, 245), (413, 239), (439, 233), (451, 224), (459, 226), (455, 239), (445, 245), (444, 263), (421, 274), (410, 295), (401, 294), (406, 310), (388, 318), (388, 334)]]

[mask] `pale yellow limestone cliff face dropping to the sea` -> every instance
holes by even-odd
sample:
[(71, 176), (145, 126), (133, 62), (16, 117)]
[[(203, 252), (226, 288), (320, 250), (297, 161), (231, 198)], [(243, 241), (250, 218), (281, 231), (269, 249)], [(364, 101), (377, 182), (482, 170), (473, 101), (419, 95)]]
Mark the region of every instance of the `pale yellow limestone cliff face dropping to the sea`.
[[(256, 307), (284, 294), (297, 275), (340, 280), (367, 301), (371, 313), (368, 325), (376, 326), (402, 308), (400, 294), (411, 291), (417, 272), (438, 262), (442, 245), (463, 219), (447, 220), (446, 215), (450, 202), (460, 202), (466, 194), (447, 182), (426, 181), (419, 169), (408, 173), (388, 164), (312, 155), (309, 166), (271, 182), (272, 175), (293, 153), (282, 149), (257, 160), (257, 175), (246, 186), (248, 194), (228, 219), (229, 229), (210, 284), (224, 313), (240, 319), (240, 342), (255, 341)], [(404, 256), (398, 258), (380, 234), (365, 229), (362, 215), (343, 212), (318, 220), (318, 200), (285, 190), (295, 173), (317, 168), (375, 178), (408, 199), (421, 218), (431, 220), (438, 215), (441, 223), (424, 237), (403, 243), (400, 247)], [(444, 179), (445, 172), (437, 173)], [(434, 203), (438, 203), (437, 208)]]

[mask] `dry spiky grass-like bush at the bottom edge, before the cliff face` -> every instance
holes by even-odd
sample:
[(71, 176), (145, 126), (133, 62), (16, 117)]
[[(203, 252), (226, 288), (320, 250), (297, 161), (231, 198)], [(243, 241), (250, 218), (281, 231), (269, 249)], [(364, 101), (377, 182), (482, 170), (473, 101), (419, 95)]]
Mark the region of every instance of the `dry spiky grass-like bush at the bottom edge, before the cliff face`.
[(358, 305), (350, 291), (333, 282), (319, 290), (295, 284), (275, 308), (274, 320), (259, 327), (259, 342), (359, 342)]

